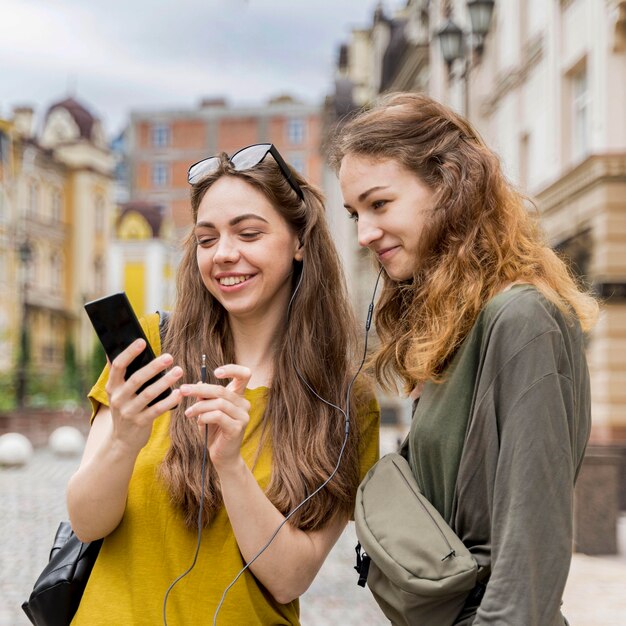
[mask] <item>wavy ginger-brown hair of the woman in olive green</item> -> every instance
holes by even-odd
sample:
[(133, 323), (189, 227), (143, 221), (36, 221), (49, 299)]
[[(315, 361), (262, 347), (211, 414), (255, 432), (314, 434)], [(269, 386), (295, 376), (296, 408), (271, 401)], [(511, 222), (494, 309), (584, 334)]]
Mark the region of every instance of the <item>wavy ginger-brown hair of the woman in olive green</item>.
[(435, 194), (413, 277), (385, 275), (376, 306), (381, 341), (372, 360), (384, 387), (395, 388), (397, 376), (406, 391), (441, 381), (485, 303), (515, 281), (534, 284), (583, 330), (591, 328), (597, 302), (546, 245), (525, 198), (461, 116), (423, 94), (390, 94), (339, 131), (336, 169), (348, 154), (393, 159)]

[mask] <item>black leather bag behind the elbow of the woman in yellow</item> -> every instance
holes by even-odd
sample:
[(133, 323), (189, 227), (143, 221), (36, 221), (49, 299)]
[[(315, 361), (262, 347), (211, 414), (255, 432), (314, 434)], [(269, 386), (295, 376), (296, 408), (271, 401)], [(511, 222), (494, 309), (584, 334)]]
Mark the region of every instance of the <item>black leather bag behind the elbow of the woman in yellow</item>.
[(50, 560), (22, 604), (35, 626), (69, 626), (80, 604), (102, 539), (82, 543), (69, 522), (61, 522)]

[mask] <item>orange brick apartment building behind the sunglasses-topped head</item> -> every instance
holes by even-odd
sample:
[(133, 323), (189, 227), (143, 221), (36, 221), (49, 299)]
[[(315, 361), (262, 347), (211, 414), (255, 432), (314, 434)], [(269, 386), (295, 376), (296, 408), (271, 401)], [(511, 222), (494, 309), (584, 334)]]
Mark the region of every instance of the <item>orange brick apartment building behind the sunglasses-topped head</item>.
[(195, 109), (134, 112), (127, 134), (130, 198), (164, 207), (182, 235), (191, 224), (191, 164), (271, 142), (296, 170), (320, 185), (320, 130), (320, 107), (290, 97), (263, 106), (231, 106), (214, 99)]

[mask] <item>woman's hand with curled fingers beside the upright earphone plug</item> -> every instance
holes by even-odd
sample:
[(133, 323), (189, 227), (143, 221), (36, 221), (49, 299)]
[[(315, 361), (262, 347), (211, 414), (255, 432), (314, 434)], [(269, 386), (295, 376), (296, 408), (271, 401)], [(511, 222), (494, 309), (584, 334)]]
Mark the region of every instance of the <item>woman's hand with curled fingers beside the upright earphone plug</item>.
[(204, 431), (209, 429), (209, 456), (218, 472), (241, 462), (241, 443), (250, 421), (250, 403), (244, 391), (252, 373), (242, 365), (223, 365), (215, 370), (217, 378), (231, 378), (226, 386), (196, 383), (181, 385), (182, 396), (197, 398), (185, 415), (195, 419)]

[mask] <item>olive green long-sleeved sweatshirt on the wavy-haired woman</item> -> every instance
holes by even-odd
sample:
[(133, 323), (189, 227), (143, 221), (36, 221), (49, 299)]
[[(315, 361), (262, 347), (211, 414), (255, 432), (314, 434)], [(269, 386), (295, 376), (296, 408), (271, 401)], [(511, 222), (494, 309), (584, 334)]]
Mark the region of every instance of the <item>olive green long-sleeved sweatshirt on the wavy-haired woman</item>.
[(497, 295), (425, 385), (409, 462), (491, 578), (459, 624), (565, 623), (574, 482), (591, 426), (584, 338), (531, 286)]

